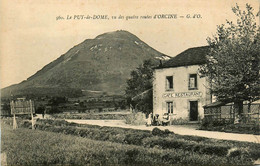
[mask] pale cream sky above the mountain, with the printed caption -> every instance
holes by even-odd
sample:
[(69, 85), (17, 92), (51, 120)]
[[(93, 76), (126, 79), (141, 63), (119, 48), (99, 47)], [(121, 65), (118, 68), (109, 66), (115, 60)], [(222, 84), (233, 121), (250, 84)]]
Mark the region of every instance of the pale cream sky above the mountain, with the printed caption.
[[(236, 20), (231, 10), (236, 3), (241, 8), (249, 3), (257, 12), (259, 2), (1, 0), (0, 88), (26, 80), (84, 40), (116, 30), (129, 31), (159, 52), (173, 57), (190, 47), (207, 45), (206, 39), (216, 33), (217, 25)], [(177, 19), (159, 19), (166, 14), (177, 15)], [(75, 15), (107, 15), (109, 19), (74, 19)], [(118, 19), (120, 15), (124, 19)], [(64, 19), (57, 20), (59, 16)], [(67, 19), (70, 16), (72, 19)], [(126, 20), (127, 16), (139, 19)], [(152, 16), (152, 19), (140, 19), (140, 16)]]

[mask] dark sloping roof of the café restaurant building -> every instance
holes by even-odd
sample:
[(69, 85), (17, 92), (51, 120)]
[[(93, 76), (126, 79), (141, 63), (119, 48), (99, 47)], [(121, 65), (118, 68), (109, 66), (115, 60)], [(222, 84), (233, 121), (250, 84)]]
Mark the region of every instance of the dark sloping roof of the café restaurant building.
[(155, 69), (202, 65), (206, 63), (206, 55), (208, 52), (209, 46), (189, 48)]

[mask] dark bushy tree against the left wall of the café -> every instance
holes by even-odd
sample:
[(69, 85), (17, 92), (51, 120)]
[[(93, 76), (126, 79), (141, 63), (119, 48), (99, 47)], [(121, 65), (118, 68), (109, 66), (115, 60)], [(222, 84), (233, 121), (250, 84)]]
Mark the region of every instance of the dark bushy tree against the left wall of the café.
[(153, 65), (151, 60), (145, 60), (143, 65), (133, 70), (125, 90), (127, 103), (146, 114), (153, 110)]

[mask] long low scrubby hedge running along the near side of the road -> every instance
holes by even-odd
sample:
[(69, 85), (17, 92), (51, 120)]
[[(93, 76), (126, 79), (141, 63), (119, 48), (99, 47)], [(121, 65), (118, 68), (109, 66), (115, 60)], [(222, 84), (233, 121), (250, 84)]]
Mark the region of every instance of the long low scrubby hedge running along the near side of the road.
[[(30, 127), (29, 122), (24, 122), (24, 127)], [(36, 124), (37, 129), (64, 133), (69, 135), (76, 135), (93, 140), (110, 141), (123, 144), (142, 145), (149, 148), (162, 149), (183, 149), (185, 151), (192, 151), (199, 154), (208, 154), (216, 156), (226, 156), (229, 150), (233, 147), (240, 147), (241, 152), (245, 153), (246, 143), (232, 143), (232, 141), (212, 141), (212, 139), (193, 136), (176, 135), (169, 130), (162, 131), (154, 128), (152, 131), (142, 131), (117, 127), (101, 127), (95, 125), (81, 125), (76, 123), (69, 123), (64, 120), (39, 120)], [(260, 157), (260, 152), (257, 147), (251, 146), (250, 157), (257, 159)], [(231, 157), (235, 157), (234, 153)]]

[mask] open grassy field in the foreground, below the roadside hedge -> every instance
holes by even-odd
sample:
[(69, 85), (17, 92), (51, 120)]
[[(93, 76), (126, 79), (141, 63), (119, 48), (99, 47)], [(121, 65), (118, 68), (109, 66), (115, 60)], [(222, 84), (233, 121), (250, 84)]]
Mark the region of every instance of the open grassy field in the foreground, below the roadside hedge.
[(252, 165), (238, 157), (146, 148), (40, 130), (10, 128), (4, 133), (1, 150), (7, 154), (8, 165)]

